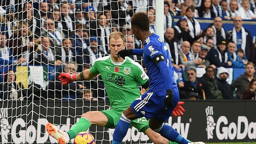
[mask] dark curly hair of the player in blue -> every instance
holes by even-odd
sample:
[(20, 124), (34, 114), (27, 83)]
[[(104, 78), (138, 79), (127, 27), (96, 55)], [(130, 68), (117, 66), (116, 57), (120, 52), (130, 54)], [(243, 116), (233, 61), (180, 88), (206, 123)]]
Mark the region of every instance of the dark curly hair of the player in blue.
[(143, 31), (149, 30), (149, 17), (145, 12), (137, 12), (131, 18), (132, 26), (137, 26)]

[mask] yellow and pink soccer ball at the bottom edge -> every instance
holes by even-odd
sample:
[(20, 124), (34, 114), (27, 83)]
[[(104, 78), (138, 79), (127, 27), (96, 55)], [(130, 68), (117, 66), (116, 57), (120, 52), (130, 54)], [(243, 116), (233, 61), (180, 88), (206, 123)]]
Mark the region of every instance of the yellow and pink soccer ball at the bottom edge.
[(76, 135), (74, 144), (95, 144), (95, 140), (90, 133), (80, 132)]

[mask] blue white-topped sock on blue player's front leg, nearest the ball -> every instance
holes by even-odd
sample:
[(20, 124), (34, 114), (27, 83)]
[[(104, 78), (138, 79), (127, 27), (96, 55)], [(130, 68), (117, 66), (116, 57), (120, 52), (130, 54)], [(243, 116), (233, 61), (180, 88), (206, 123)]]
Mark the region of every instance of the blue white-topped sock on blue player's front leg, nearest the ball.
[(131, 120), (127, 119), (122, 113), (122, 116), (119, 122), (117, 123), (114, 134), (113, 134), (112, 144), (122, 143), (122, 140), (124, 139), (130, 124), (131, 124)]

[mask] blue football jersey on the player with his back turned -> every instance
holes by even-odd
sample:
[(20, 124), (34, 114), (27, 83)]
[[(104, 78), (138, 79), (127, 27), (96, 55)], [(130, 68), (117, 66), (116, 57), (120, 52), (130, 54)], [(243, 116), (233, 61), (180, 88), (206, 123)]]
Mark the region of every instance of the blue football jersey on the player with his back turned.
[(157, 34), (153, 33), (144, 41), (143, 45), (143, 59), (149, 76), (149, 92), (155, 92), (166, 89), (163, 77), (160, 73), (160, 69), (153, 62), (153, 58), (159, 54), (164, 55), (165, 62), (169, 67), (172, 77), (172, 87), (177, 86), (177, 84), (174, 81), (174, 70), (171, 63), (171, 57), (162, 38)]

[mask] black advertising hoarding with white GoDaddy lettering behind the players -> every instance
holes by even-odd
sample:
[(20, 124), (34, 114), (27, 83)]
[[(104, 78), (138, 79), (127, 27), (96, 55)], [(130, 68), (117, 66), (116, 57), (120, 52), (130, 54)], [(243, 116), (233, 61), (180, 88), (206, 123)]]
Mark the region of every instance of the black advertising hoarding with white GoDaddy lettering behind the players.
[[(87, 111), (109, 108), (108, 101), (0, 101), (0, 143), (57, 143), (45, 132), (52, 122), (67, 131)], [(256, 141), (256, 101), (185, 101), (182, 117), (166, 122), (192, 141)], [(114, 129), (92, 126), (96, 143), (109, 144)], [(126, 143), (151, 143), (136, 128), (129, 128)]]

